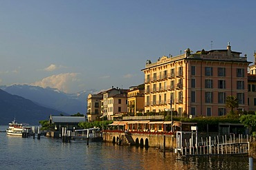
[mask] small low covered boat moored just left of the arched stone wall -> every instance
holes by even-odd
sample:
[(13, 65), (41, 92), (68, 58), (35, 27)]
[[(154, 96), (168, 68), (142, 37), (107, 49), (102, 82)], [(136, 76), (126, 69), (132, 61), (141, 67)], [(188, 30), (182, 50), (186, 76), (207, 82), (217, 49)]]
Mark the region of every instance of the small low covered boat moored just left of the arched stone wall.
[(73, 140), (90, 140), (101, 142), (103, 140), (100, 128), (76, 129), (72, 136)]

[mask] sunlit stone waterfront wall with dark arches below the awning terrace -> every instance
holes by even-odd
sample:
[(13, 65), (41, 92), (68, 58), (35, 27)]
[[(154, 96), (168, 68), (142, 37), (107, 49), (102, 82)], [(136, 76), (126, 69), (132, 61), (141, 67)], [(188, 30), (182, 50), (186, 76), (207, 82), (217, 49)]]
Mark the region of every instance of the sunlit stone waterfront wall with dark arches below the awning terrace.
[(118, 143), (118, 140), (122, 140), (120, 145), (138, 145), (140, 147), (156, 147), (163, 149), (163, 143), (165, 138), (165, 148), (174, 149), (176, 147), (176, 138), (172, 134), (161, 134), (161, 133), (130, 133), (128, 136), (133, 140), (134, 143), (129, 141), (126, 137), (125, 132), (113, 132), (105, 131), (103, 133), (103, 140), (105, 142)]

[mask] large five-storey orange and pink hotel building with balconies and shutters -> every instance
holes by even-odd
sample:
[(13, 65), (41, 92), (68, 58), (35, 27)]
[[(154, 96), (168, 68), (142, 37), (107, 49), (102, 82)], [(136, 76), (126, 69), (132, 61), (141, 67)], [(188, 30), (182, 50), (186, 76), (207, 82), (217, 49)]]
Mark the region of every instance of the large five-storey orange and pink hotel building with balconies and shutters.
[(247, 57), (226, 50), (190, 49), (179, 56), (147, 61), (145, 112), (177, 111), (178, 116), (226, 115), (226, 97), (236, 96), (239, 108), (248, 110)]

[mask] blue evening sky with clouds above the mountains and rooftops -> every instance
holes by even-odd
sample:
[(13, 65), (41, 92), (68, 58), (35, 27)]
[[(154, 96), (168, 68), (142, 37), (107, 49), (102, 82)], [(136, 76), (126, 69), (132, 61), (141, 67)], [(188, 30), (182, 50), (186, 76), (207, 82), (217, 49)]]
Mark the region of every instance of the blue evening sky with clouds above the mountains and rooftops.
[(144, 83), (145, 63), (188, 47), (254, 62), (256, 1), (0, 1), (0, 85), (66, 93)]

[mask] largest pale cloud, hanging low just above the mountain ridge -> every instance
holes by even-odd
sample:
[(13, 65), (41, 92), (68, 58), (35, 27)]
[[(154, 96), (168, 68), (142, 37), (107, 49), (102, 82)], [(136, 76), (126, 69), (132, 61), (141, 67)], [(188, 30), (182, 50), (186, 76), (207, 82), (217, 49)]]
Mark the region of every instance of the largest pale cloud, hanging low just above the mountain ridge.
[(51, 87), (59, 89), (62, 92), (68, 93), (69, 87), (72, 83), (79, 81), (77, 78), (77, 73), (64, 73), (64, 74), (55, 74), (43, 78), (41, 81), (31, 83), (31, 85), (40, 86), (40, 87)]

